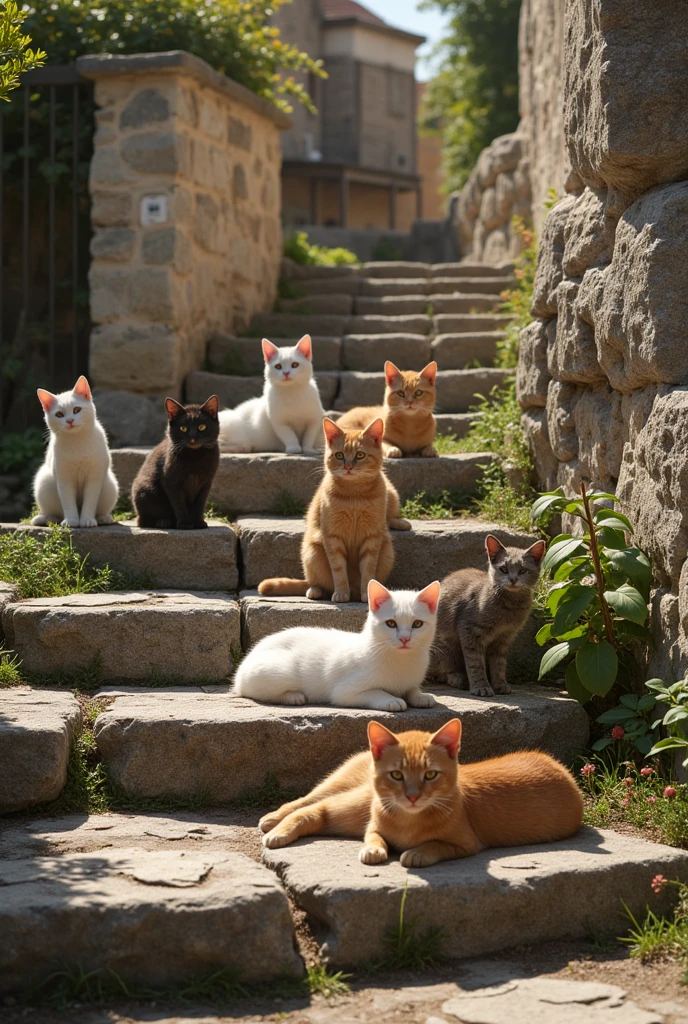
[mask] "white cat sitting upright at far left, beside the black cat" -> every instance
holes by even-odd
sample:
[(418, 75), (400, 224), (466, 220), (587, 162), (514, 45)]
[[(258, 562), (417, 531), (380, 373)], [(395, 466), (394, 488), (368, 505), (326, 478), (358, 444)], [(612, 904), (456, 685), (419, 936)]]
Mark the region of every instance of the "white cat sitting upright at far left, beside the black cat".
[(112, 470), (105, 431), (98, 423), (91, 389), (80, 377), (72, 391), (38, 389), (50, 441), (34, 479), (40, 514), (34, 526), (106, 526), (119, 487)]

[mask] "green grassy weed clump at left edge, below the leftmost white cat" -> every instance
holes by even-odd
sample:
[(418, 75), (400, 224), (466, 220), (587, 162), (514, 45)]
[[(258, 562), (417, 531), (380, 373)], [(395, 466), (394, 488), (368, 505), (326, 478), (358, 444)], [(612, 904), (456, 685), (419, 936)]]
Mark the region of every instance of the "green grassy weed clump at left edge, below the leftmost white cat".
[(45, 538), (16, 531), (0, 536), (0, 580), (17, 586), (22, 598), (64, 597), (115, 590), (145, 590), (147, 577), (88, 564), (70, 531), (51, 526)]

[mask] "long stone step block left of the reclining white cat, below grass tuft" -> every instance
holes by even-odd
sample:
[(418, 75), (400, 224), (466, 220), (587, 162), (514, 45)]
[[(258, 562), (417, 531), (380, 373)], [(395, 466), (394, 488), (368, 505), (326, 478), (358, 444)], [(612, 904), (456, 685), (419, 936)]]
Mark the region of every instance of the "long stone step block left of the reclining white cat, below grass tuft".
[(103, 680), (219, 681), (240, 644), (228, 594), (120, 591), (42, 597), (8, 605), (5, 636), (27, 672), (99, 666)]

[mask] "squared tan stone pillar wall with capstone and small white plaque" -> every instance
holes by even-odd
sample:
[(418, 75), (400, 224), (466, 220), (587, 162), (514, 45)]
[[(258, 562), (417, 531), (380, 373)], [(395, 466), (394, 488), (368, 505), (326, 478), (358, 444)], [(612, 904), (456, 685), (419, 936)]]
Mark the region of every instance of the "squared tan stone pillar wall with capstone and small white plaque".
[(105, 392), (179, 397), (208, 339), (272, 304), (290, 121), (180, 51), (78, 69), (97, 105), (90, 377)]

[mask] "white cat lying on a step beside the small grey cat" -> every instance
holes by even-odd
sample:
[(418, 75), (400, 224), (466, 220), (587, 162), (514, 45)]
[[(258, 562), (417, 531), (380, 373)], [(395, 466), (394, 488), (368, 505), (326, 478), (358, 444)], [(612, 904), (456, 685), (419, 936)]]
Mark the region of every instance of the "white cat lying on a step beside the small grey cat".
[(244, 658), (234, 693), (272, 703), (405, 711), (434, 708), (421, 690), (435, 636), (440, 585), (420, 594), (368, 587), (360, 633), (299, 626), (264, 637)]

